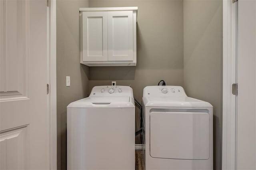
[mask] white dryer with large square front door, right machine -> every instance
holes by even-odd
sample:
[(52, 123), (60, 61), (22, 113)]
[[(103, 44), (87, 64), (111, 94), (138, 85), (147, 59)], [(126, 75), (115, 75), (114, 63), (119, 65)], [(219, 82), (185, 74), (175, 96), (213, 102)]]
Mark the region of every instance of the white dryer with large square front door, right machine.
[(146, 170), (212, 170), (212, 105), (180, 86), (143, 91)]

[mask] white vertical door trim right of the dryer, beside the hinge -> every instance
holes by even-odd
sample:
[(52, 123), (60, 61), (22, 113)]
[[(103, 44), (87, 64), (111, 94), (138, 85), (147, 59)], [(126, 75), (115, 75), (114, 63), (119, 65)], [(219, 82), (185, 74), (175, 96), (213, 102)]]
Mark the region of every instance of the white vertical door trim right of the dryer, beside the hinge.
[(236, 170), (236, 101), (232, 84), (237, 83), (237, 2), (223, 0), (223, 112), (222, 170)]

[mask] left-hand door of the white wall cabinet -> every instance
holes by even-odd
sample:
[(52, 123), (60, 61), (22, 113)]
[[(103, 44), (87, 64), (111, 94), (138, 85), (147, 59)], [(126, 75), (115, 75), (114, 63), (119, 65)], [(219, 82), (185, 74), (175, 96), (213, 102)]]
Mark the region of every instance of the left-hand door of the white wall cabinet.
[(108, 61), (108, 13), (82, 13), (83, 61)]

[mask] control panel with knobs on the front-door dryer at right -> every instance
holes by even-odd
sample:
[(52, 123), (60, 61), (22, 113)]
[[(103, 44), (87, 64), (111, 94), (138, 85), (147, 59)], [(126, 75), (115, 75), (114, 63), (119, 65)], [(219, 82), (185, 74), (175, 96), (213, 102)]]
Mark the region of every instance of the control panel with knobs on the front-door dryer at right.
[(143, 96), (150, 97), (185, 97), (187, 96), (181, 86), (147, 86), (143, 90)]

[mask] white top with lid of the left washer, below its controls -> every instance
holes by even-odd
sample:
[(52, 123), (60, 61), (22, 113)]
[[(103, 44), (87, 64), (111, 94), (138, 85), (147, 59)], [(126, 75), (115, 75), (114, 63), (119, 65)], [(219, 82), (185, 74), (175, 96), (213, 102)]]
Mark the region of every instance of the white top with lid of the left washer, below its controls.
[(130, 97), (87, 97), (68, 105), (68, 108), (134, 108)]

